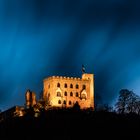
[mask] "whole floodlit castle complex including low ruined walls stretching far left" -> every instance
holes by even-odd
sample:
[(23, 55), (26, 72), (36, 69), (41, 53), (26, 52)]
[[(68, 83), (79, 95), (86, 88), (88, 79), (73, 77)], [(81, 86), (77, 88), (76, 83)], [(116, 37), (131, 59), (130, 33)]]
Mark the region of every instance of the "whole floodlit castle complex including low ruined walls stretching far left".
[(83, 73), (81, 78), (52, 76), (44, 79), (42, 98), (27, 90), (25, 106), (14, 106), (0, 115), (0, 121), (10, 116), (22, 117), (26, 109), (33, 108), (36, 117), (40, 108), (72, 108), (78, 104), (80, 109), (94, 110), (94, 74)]

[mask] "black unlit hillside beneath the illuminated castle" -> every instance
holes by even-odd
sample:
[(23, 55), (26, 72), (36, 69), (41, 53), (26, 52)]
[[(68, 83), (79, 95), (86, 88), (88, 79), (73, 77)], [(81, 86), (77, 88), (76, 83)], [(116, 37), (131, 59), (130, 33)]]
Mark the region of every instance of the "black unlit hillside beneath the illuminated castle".
[(140, 116), (109, 112), (51, 110), (0, 123), (0, 139), (139, 139)]

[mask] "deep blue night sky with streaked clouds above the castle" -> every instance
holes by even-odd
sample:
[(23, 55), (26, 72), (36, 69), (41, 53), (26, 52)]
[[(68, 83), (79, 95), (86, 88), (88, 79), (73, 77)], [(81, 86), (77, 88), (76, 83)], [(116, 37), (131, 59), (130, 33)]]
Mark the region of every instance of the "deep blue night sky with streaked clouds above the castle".
[(43, 79), (95, 74), (95, 94), (112, 103), (122, 88), (140, 95), (139, 0), (0, 0), (0, 109), (39, 96)]

